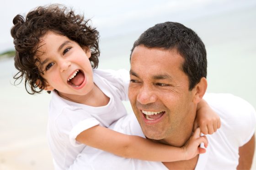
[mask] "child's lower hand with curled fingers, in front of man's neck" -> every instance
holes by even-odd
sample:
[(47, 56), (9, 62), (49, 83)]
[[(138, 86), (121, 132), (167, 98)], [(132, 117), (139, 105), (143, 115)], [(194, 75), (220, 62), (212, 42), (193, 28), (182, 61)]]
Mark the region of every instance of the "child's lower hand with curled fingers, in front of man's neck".
[(208, 140), (206, 136), (200, 136), (200, 129), (197, 128), (194, 134), (190, 137), (187, 143), (183, 146), (184, 160), (190, 160), (198, 154), (203, 154), (206, 149), (200, 148), (200, 144), (204, 143), (204, 147), (207, 148)]

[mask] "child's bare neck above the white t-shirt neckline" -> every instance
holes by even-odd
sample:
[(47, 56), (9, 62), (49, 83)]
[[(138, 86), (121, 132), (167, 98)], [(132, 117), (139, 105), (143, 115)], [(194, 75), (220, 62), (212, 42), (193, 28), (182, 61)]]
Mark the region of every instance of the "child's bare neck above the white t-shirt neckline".
[(109, 97), (105, 95), (97, 85), (93, 85), (92, 90), (86, 95), (63, 95), (58, 92), (58, 95), (66, 100), (73, 101), (93, 107), (105, 106), (109, 102)]

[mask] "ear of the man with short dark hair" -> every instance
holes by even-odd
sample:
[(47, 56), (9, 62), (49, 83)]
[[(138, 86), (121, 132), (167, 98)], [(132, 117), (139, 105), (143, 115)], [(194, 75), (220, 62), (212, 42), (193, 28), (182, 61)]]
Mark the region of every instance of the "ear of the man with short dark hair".
[(199, 103), (199, 101), (203, 98), (203, 95), (205, 94), (206, 89), (207, 89), (207, 80), (205, 77), (203, 77), (193, 89), (195, 90), (195, 95), (193, 98), (194, 103)]

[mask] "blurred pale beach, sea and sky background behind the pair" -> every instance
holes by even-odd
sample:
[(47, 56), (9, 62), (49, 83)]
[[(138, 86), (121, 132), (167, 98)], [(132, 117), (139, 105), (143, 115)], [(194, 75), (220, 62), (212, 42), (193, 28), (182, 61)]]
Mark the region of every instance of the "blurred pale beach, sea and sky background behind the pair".
[[(8, 0), (1, 2), (0, 53), (13, 50), (13, 17), (49, 3), (91, 18), (101, 35), (99, 69), (129, 70), (133, 42), (150, 26), (176, 21), (192, 28), (208, 53), (208, 92), (232, 93), (256, 108), (256, 0)], [(13, 58), (0, 57), (0, 170), (52, 170), (46, 139), (51, 95), (28, 95), (23, 83), (12, 85), (15, 73)]]

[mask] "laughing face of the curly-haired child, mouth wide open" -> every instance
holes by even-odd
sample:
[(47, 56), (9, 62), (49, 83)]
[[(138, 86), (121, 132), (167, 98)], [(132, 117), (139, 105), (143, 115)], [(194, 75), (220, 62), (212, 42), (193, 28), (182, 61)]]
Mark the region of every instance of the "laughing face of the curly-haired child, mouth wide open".
[(43, 63), (42, 76), (48, 83), (45, 90), (56, 89), (69, 100), (90, 93), (94, 85), (90, 49), (81, 48), (66, 36), (49, 31), (41, 38), (38, 51)]

